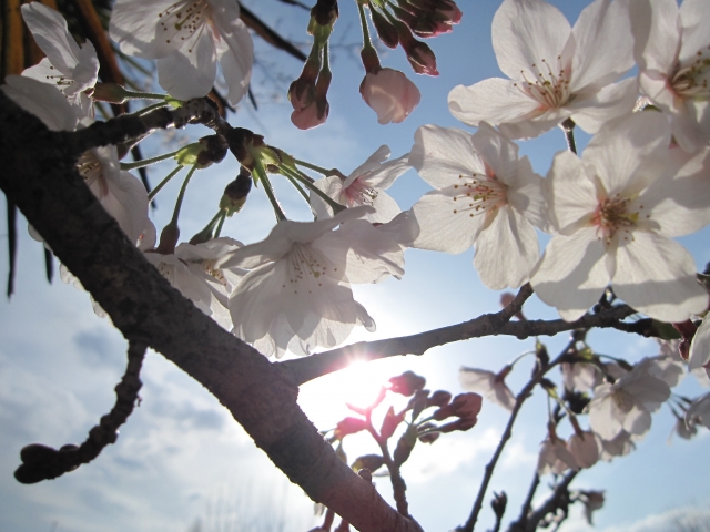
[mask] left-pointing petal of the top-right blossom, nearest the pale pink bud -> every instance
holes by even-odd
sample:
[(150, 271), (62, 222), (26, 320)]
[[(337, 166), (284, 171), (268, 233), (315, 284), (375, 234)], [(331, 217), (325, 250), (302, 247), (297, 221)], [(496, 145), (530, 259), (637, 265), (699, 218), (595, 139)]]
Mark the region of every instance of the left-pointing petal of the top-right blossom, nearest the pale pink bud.
[(539, 102), (523, 92), (517, 82), (500, 78), (470, 86), (458, 85), (448, 94), (448, 109), (454, 117), (474, 127), (483, 121), (498, 125), (537, 116), (539, 108)]

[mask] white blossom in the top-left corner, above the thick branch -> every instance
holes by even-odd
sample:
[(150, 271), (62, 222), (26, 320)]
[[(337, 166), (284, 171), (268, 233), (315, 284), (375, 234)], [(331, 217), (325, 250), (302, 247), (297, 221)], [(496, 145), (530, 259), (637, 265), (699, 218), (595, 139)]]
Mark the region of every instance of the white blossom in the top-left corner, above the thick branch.
[(23, 4), (22, 18), (47, 54), (22, 75), (55, 85), (72, 103), (88, 112), (91, 101), (84, 92), (93, 89), (99, 75), (99, 58), (91, 41), (77, 44), (64, 18), (40, 2)]

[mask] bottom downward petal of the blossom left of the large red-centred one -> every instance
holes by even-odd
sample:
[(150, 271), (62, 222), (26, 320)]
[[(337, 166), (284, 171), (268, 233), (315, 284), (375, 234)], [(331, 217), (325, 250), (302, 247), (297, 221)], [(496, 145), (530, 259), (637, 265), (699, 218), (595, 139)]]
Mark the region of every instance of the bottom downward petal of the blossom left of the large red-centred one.
[(498, 209), (493, 223), (476, 239), (474, 266), (493, 290), (517, 288), (530, 278), (540, 258), (537, 233), (510, 207)]

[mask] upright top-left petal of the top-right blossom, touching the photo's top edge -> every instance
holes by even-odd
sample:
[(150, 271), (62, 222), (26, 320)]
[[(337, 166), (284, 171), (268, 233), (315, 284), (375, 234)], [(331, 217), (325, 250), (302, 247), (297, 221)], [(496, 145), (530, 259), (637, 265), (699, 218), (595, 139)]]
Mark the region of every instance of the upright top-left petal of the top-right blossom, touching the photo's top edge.
[(534, 64), (551, 62), (562, 53), (571, 35), (561, 11), (542, 0), (505, 0), (490, 29), (498, 66), (510, 79), (537, 78)]

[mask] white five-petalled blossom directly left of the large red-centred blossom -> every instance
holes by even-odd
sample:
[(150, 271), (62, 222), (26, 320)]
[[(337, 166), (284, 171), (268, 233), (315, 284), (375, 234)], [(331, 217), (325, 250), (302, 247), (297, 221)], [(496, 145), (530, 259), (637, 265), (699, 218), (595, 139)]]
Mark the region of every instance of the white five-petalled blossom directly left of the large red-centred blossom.
[(412, 207), (414, 247), (458, 254), (475, 245), (474, 266), (495, 290), (529, 279), (540, 256), (535, 227), (546, 225), (541, 177), (513, 142), (486, 123), (474, 135), (425, 125), (409, 164), (436, 188)]

